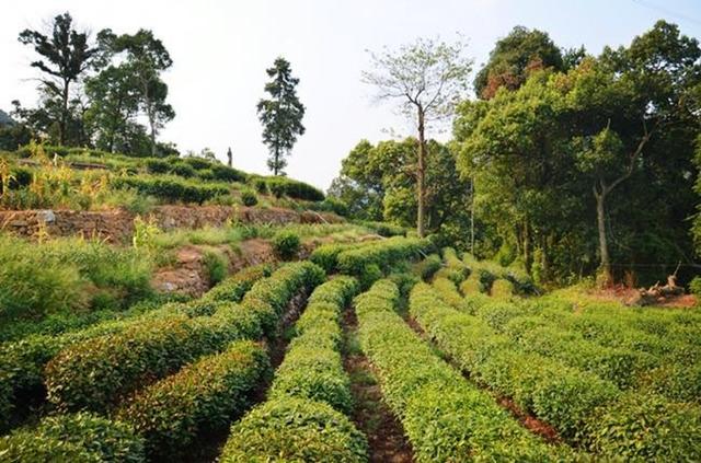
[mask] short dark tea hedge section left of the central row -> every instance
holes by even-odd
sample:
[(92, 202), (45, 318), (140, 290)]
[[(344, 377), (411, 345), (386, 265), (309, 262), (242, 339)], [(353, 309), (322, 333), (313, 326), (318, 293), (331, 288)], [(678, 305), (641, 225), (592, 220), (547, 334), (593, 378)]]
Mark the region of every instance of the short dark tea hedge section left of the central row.
[(262, 346), (235, 342), (140, 391), (116, 416), (146, 438), (151, 459), (176, 456), (198, 431), (222, 429), (241, 415), (268, 367)]

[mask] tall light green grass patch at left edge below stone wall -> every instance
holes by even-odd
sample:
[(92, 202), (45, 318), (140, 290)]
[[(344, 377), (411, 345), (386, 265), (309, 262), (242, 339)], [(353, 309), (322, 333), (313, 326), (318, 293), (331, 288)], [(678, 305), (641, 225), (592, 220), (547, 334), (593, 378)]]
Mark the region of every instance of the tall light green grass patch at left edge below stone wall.
[(152, 263), (93, 240), (28, 242), (0, 234), (0, 320), (118, 310), (150, 294)]

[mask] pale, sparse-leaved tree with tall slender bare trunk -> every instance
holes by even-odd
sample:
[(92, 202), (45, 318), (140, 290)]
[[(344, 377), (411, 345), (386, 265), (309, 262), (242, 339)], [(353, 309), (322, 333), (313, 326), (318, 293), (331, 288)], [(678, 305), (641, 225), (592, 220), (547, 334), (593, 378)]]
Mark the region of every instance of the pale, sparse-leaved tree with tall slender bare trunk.
[(363, 73), (365, 83), (377, 86), (377, 99), (401, 101), (400, 109), (416, 121), (418, 134), (416, 175), (416, 230), (425, 234), (426, 124), (452, 115), (464, 99), (472, 60), (464, 44), (418, 39), (397, 51), (371, 54), (374, 70)]

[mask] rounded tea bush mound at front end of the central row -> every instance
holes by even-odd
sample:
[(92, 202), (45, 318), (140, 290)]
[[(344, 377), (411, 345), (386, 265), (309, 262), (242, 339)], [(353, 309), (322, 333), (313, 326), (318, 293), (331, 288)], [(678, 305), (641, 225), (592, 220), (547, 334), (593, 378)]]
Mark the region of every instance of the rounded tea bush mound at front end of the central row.
[(366, 462), (365, 436), (331, 406), (285, 397), (233, 425), (219, 459), (232, 462)]

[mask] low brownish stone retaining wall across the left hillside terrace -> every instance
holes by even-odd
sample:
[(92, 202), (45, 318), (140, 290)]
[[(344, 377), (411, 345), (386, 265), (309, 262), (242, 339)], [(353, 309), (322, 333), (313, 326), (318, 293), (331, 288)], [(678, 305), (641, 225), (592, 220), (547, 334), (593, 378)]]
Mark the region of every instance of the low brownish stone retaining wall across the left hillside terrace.
[[(325, 212), (297, 212), (278, 208), (229, 206), (159, 206), (149, 215), (162, 230), (221, 227), (227, 221), (241, 223), (338, 223), (343, 219)], [(136, 215), (124, 209), (106, 211), (0, 210), (0, 230), (24, 238), (36, 238), (39, 224), (49, 236), (82, 235), (112, 243), (127, 243), (134, 234)]]

